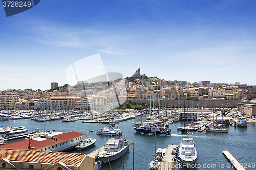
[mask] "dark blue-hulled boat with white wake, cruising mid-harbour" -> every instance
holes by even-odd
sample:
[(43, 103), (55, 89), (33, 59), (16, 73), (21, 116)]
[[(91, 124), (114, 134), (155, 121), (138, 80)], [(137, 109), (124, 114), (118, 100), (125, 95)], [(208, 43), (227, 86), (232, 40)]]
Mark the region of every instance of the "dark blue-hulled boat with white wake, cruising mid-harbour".
[(155, 126), (155, 125), (142, 125), (138, 127), (134, 127), (136, 132), (140, 132), (142, 134), (152, 134), (152, 135), (169, 135), (170, 129), (165, 129), (164, 127)]

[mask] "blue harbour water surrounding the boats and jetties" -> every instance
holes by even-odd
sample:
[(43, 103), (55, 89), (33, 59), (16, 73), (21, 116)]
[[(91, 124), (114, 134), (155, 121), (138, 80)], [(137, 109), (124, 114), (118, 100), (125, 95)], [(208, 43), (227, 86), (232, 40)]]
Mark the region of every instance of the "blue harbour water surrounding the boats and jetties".
[[(145, 115), (142, 116), (142, 119)], [(134, 164), (135, 169), (150, 169), (148, 168), (148, 163), (153, 160), (153, 155), (155, 152), (155, 136), (153, 135), (142, 135), (136, 133), (133, 129), (132, 122), (140, 121), (140, 116), (135, 119), (126, 120), (120, 122), (119, 128), (123, 132), (122, 137), (126, 137), (129, 141), (135, 141), (134, 145)], [(169, 125), (169, 129), (172, 130), (170, 136), (156, 136), (157, 148), (167, 148), (168, 144), (180, 144), (180, 141), (186, 135), (181, 134), (177, 131), (178, 126), (182, 126), (183, 122), (178, 122)], [(30, 119), (18, 119), (18, 120), (8, 120), (2, 122), (2, 126), (25, 126), (29, 132), (35, 130), (44, 131), (44, 124), (42, 122), (36, 122)], [(76, 150), (71, 150), (68, 152), (89, 154), (92, 151), (102, 147), (108, 140), (108, 136), (96, 135), (97, 130), (102, 126), (108, 126), (107, 124), (84, 124), (82, 120), (77, 122), (62, 123), (62, 120), (54, 120), (47, 122), (45, 124), (46, 131), (76, 131), (86, 134), (88, 137), (93, 137), (97, 141), (95, 146), (87, 150), (78, 152)], [(92, 133), (86, 132), (88, 130), (93, 130)], [(222, 151), (227, 149), (235, 158), (245, 164), (252, 165), (256, 163), (256, 127), (254, 123), (248, 123), (247, 128), (234, 128), (229, 127), (228, 133), (211, 133), (211, 132), (194, 132), (189, 137), (192, 137), (196, 143), (196, 148), (198, 151), (197, 163), (203, 166), (205, 164), (206, 168), (190, 168), (190, 169), (233, 169), (228, 167), (228, 161), (222, 154)], [(85, 137), (84, 137), (85, 138)], [(112, 169), (133, 169), (133, 152), (132, 145), (130, 145), (130, 150), (122, 156), (121, 159), (111, 162)], [(222, 164), (220, 168), (220, 164)], [(224, 164), (224, 167), (223, 167)], [(207, 167), (208, 165), (208, 167)], [(215, 168), (215, 165), (217, 168)], [(100, 160), (97, 160), (96, 169), (111, 169), (110, 165), (102, 164)], [(256, 167), (247, 167), (246, 169), (256, 169)]]

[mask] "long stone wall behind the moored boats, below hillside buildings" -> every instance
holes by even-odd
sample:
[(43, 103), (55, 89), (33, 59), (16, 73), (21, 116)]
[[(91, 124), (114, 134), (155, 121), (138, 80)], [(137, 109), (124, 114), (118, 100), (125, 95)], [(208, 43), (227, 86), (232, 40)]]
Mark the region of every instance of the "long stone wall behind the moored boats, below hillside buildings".
[[(124, 103), (124, 105), (126, 105), (126, 103), (135, 103), (135, 104), (141, 104), (141, 103), (145, 103), (146, 100), (126, 100), (125, 102), (122, 101), (122, 103)], [(197, 107), (224, 107), (224, 108), (237, 108), (238, 107), (238, 103), (240, 103), (240, 100), (222, 100), (222, 101), (215, 101), (215, 100), (210, 100), (210, 101), (194, 101), (194, 100), (186, 100), (185, 101), (185, 107), (193, 107), (197, 108)], [(154, 100), (154, 103), (157, 103), (157, 105), (160, 106), (167, 106), (167, 107), (184, 107), (184, 100), (172, 100), (172, 99), (166, 99), (166, 100), (160, 100), (160, 99), (156, 99)]]

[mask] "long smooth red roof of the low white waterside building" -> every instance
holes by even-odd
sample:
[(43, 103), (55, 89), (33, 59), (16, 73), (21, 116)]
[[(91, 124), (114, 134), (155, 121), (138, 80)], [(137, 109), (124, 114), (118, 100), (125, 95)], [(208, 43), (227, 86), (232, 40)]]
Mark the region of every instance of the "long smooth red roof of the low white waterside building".
[(0, 145), (0, 148), (27, 150), (29, 147), (29, 142), (30, 142), (31, 147), (34, 148), (34, 150), (40, 150), (42, 148), (47, 148), (51, 145), (58, 144), (63, 141), (68, 141), (68, 140), (71, 140), (73, 138), (80, 137), (83, 135), (85, 135), (85, 134), (71, 131), (71, 132), (55, 135), (54, 137), (57, 138), (57, 141), (53, 140), (53, 139), (46, 139), (46, 140), (42, 140), (42, 141), (37, 141), (37, 140), (33, 140), (33, 139), (32, 140), (30, 139), (30, 141), (29, 141), (29, 139), (25, 139), (25, 140), (20, 140), (20, 141), (8, 143), (8, 144)]

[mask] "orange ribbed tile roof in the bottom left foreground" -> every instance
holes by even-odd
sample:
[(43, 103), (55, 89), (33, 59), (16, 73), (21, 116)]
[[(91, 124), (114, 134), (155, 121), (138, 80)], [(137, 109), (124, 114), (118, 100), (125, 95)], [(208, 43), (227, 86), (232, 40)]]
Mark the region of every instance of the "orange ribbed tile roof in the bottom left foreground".
[(76, 153), (0, 149), (0, 159), (6, 158), (10, 161), (38, 162), (49, 164), (62, 162), (66, 165), (78, 166), (84, 157), (86, 157), (86, 155)]

